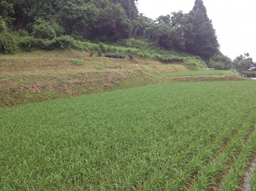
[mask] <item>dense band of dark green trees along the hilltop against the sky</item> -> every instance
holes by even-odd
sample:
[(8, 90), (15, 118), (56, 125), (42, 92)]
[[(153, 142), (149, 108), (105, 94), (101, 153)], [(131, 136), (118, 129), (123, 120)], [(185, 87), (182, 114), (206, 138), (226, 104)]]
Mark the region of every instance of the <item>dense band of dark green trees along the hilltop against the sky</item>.
[(210, 59), (219, 52), (212, 21), (202, 0), (189, 13), (161, 15), (155, 21), (138, 13), (137, 0), (0, 0), (0, 33), (26, 30), (35, 38), (61, 35), (113, 42), (148, 38), (159, 47)]

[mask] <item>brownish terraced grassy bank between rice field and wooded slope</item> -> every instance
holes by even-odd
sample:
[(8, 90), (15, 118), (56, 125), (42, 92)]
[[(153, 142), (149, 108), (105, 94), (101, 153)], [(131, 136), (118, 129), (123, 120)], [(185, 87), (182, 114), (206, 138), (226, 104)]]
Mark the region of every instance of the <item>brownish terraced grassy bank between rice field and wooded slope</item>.
[[(241, 79), (227, 77), (229, 73), (222, 72), (211, 76), (200, 76), (202, 73), (199, 76), (168, 76), (169, 73), (203, 67), (201, 61), (194, 57), (188, 57), (184, 62), (166, 64), (139, 56), (114, 59), (91, 57), (89, 54), (86, 51), (62, 50), (1, 55), (0, 106), (68, 98), (163, 81), (215, 81), (223, 80), (223, 76), (226, 76), (225, 80)], [(191, 65), (188, 60), (197, 64)]]

